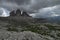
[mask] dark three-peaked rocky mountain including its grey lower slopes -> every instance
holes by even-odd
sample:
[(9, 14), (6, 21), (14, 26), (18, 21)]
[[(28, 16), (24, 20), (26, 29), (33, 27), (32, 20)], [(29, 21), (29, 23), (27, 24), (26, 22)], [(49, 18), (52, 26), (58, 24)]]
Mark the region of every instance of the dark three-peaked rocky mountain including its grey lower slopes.
[(45, 23), (47, 20), (45, 18), (33, 18), (26, 11), (21, 11), (20, 9), (13, 10), (10, 12), (9, 17), (0, 17), (2, 21), (11, 21), (21, 23), (22, 21), (28, 23)]

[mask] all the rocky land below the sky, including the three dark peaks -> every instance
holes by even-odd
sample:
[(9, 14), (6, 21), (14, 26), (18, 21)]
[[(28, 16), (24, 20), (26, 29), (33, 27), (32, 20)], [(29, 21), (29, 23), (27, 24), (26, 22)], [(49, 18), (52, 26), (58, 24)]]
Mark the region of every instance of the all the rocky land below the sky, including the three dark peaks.
[(32, 18), (18, 9), (0, 17), (0, 40), (60, 40), (60, 25)]

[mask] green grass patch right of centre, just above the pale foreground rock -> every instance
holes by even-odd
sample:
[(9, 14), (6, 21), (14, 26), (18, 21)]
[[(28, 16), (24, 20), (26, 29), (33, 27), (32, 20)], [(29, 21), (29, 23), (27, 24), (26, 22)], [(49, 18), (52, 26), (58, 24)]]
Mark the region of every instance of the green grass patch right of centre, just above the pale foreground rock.
[(31, 31), (42, 35), (49, 35), (49, 32), (40, 28), (40, 24), (27, 25), (21, 31)]

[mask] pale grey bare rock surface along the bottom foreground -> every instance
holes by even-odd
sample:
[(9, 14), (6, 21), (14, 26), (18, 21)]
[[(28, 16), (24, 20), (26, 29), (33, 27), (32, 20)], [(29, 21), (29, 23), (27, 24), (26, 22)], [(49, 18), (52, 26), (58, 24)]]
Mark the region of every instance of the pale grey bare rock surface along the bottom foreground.
[(0, 40), (54, 40), (49, 36), (43, 36), (30, 31), (9, 32), (0, 30)]

